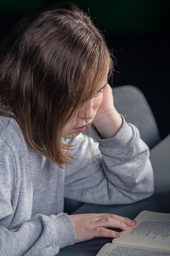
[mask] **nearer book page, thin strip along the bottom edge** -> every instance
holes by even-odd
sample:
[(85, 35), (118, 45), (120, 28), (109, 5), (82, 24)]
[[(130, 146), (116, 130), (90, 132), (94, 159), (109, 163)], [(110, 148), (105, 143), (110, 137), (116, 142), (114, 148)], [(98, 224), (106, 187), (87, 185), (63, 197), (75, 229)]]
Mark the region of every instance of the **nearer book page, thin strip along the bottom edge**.
[(170, 252), (107, 243), (96, 256), (170, 256)]

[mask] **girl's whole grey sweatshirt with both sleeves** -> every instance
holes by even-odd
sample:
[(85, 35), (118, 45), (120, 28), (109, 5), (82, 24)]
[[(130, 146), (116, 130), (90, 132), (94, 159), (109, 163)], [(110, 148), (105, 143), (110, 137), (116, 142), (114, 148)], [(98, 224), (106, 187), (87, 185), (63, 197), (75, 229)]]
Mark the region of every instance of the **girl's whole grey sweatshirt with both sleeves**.
[(76, 144), (72, 164), (59, 168), (27, 144), (14, 119), (0, 117), (0, 255), (53, 256), (75, 243), (64, 197), (95, 204), (128, 204), (153, 193), (149, 150), (124, 120), (110, 139), (94, 130), (94, 161), (86, 135)]

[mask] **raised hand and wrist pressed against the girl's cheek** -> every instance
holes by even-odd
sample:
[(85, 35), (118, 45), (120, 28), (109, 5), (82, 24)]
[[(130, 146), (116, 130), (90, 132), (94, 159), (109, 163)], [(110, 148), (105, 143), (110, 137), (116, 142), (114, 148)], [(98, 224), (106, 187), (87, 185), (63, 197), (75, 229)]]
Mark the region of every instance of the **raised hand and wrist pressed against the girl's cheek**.
[(113, 93), (109, 84), (103, 89), (103, 100), (97, 110), (93, 124), (103, 139), (115, 136), (122, 126), (122, 118), (115, 109)]

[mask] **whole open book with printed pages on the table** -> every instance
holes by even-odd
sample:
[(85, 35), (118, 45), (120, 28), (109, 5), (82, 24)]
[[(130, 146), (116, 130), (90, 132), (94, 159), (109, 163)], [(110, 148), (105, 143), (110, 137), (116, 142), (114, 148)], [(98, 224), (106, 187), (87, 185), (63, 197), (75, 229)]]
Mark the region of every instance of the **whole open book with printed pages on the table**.
[(96, 256), (170, 256), (170, 213), (142, 211), (135, 220)]

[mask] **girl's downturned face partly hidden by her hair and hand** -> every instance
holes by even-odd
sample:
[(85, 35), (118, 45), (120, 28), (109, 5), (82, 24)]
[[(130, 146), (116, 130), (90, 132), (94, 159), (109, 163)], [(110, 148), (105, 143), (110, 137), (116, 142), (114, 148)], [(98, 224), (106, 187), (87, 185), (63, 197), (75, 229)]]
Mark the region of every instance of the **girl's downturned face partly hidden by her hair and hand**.
[[(73, 116), (70, 121), (63, 128), (62, 137), (71, 139), (79, 135), (80, 132), (86, 130), (90, 126), (95, 118), (97, 110), (103, 100), (103, 89), (107, 85), (108, 74), (104, 77), (100, 89), (87, 103), (80, 108), (80, 110)], [(88, 106), (88, 109), (86, 108)]]

